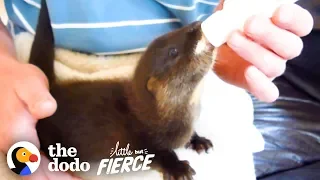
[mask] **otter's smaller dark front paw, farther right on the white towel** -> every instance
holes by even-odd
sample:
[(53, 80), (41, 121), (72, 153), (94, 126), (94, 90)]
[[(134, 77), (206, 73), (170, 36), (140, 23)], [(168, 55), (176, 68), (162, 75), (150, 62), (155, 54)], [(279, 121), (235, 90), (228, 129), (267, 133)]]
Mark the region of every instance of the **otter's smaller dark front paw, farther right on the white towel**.
[(212, 144), (211, 140), (209, 140), (205, 137), (201, 137), (196, 132), (194, 132), (191, 137), (190, 142), (188, 142), (185, 147), (191, 148), (200, 154), (203, 151), (208, 153), (208, 150), (210, 148), (213, 148), (213, 144)]

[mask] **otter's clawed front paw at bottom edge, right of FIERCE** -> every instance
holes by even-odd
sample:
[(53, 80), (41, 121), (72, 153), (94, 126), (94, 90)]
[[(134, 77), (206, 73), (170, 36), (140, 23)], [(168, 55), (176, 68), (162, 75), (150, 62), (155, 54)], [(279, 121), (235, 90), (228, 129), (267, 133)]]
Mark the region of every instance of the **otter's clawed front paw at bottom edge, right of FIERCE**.
[(188, 161), (177, 161), (164, 172), (164, 180), (193, 180), (195, 174)]

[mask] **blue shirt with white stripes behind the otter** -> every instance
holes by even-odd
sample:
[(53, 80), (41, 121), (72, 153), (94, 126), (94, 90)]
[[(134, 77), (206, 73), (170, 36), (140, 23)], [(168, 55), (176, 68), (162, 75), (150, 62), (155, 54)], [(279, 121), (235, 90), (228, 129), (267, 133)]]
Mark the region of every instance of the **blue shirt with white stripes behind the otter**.
[[(47, 0), (56, 46), (99, 55), (141, 52), (156, 37), (205, 20), (219, 0)], [(12, 33), (35, 33), (40, 0), (5, 0)]]

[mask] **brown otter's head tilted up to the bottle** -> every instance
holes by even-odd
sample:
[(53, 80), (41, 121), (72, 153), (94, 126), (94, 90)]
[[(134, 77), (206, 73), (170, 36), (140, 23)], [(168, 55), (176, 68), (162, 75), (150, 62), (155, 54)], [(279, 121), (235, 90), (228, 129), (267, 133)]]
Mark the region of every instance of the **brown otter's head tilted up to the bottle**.
[(192, 23), (149, 45), (134, 76), (134, 91), (140, 100), (162, 112), (192, 101), (215, 58), (200, 25)]

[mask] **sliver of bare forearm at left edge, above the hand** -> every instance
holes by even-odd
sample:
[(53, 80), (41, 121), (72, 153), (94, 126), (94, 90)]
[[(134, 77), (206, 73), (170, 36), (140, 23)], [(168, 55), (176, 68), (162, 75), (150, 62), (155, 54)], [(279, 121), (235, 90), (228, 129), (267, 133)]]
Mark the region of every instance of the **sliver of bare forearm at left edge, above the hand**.
[(14, 57), (15, 46), (13, 43), (13, 39), (9, 31), (7, 30), (6, 26), (0, 20), (0, 64), (3, 62), (4, 59), (14, 59)]

